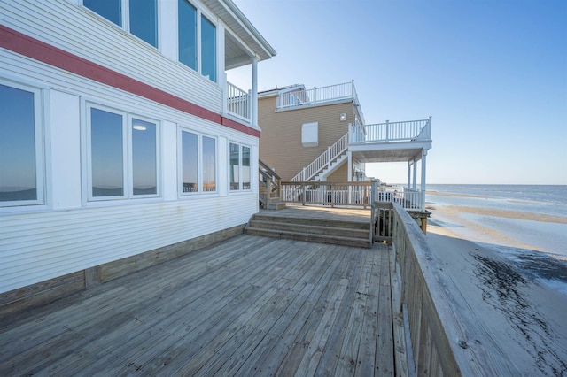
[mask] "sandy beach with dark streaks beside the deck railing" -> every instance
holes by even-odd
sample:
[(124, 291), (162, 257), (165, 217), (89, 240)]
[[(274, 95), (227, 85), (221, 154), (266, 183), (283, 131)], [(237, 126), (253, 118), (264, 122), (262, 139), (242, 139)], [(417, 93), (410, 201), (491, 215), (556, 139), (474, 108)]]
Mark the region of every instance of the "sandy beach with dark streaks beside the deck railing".
[[(433, 193), (437, 195), (437, 193)], [(459, 313), (487, 350), (501, 350), (512, 375), (567, 375), (567, 262), (467, 219), (467, 213), (564, 224), (562, 217), (429, 206), (428, 242), (452, 283)], [(551, 282), (551, 283), (550, 283)]]

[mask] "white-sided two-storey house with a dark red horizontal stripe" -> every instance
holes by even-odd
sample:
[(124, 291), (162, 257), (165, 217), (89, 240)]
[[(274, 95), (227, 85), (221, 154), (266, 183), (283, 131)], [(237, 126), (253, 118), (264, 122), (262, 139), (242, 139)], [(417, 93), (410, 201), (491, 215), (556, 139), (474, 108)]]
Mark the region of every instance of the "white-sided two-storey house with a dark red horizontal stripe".
[[(231, 0), (9, 1), (0, 21), (0, 307), (242, 231), (276, 51)], [(243, 65), (250, 92), (226, 79)]]

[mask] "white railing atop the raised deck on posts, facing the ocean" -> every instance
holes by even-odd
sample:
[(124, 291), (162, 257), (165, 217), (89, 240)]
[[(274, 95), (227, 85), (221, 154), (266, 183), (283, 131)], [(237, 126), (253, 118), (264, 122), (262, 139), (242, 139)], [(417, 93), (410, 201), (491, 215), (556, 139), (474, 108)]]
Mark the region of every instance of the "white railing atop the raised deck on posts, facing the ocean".
[(351, 142), (402, 142), (431, 140), (431, 117), (423, 120), (354, 125)]

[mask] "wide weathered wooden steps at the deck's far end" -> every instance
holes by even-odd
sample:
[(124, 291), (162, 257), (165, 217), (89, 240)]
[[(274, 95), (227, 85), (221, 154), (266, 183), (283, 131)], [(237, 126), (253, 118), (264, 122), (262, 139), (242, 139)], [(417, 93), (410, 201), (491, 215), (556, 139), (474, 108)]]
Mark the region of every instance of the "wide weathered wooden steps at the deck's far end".
[(307, 219), (260, 212), (245, 227), (247, 235), (263, 235), (298, 241), (332, 243), (370, 248), (369, 221), (346, 219)]

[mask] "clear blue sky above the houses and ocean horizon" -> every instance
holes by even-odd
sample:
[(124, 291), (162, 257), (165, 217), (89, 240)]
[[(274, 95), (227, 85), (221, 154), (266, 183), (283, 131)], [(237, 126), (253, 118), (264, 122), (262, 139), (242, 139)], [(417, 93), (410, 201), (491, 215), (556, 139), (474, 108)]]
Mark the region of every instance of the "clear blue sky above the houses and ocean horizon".
[(567, 184), (567, 1), (233, 1), (277, 52), (259, 90), (353, 80), (367, 124), (431, 116), (428, 183)]

